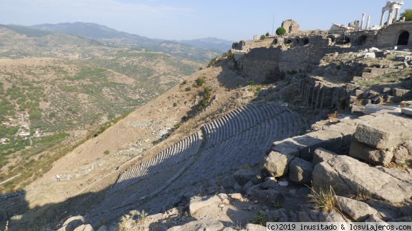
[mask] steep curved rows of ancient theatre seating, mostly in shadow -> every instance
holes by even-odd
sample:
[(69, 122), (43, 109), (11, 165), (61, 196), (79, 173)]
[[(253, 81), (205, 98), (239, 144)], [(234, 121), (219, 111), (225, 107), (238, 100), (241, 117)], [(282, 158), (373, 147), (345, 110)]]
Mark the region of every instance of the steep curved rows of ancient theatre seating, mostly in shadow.
[(128, 210), (179, 203), (183, 192), (210, 184), (231, 169), (257, 165), (273, 141), (299, 132), (297, 114), (277, 104), (249, 104), (207, 123), (192, 136), (119, 174), (89, 218), (113, 220)]

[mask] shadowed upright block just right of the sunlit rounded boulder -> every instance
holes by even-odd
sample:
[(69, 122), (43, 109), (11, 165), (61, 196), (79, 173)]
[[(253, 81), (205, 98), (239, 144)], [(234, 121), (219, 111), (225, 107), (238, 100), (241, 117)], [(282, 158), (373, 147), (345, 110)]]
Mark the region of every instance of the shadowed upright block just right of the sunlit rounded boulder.
[(289, 179), (298, 184), (310, 185), (313, 165), (301, 158), (295, 158), (289, 165)]

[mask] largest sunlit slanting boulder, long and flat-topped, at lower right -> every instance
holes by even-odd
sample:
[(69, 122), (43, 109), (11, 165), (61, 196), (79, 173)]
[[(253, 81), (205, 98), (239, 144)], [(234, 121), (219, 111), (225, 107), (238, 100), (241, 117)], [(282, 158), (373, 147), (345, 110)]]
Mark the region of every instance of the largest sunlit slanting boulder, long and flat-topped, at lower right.
[(328, 189), (337, 195), (362, 193), (385, 202), (402, 202), (412, 197), (412, 184), (402, 182), (350, 156), (335, 156), (314, 167), (313, 187)]

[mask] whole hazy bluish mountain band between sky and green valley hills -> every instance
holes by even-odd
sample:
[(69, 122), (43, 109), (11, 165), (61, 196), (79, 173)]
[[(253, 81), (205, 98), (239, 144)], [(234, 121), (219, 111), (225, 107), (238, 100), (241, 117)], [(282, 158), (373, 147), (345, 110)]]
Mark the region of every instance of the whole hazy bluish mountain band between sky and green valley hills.
[[(21, 26), (8, 25), (9, 27)], [(199, 62), (209, 62), (211, 58), (231, 49), (233, 42), (218, 38), (200, 38), (195, 40), (171, 41), (159, 38), (147, 38), (136, 34), (119, 32), (95, 23), (58, 23), (23, 27), (41, 32), (62, 32), (103, 42), (113, 47), (139, 47), (149, 51), (168, 53), (171, 56), (187, 58)], [(10, 28), (12, 29), (12, 28)], [(14, 28), (16, 29), (16, 28)], [(36, 34), (41, 34), (37, 32)]]

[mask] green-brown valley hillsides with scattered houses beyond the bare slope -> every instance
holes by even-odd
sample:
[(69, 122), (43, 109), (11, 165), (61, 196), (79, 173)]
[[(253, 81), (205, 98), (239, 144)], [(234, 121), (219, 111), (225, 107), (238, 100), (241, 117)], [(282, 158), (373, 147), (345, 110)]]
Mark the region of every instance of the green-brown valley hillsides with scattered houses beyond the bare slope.
[(0, 27), (0, 182), (23, 174), (1, 184), (1, 193), (25, 186), (62, 149), (202, 66), (165, 53), (19, 29)]

